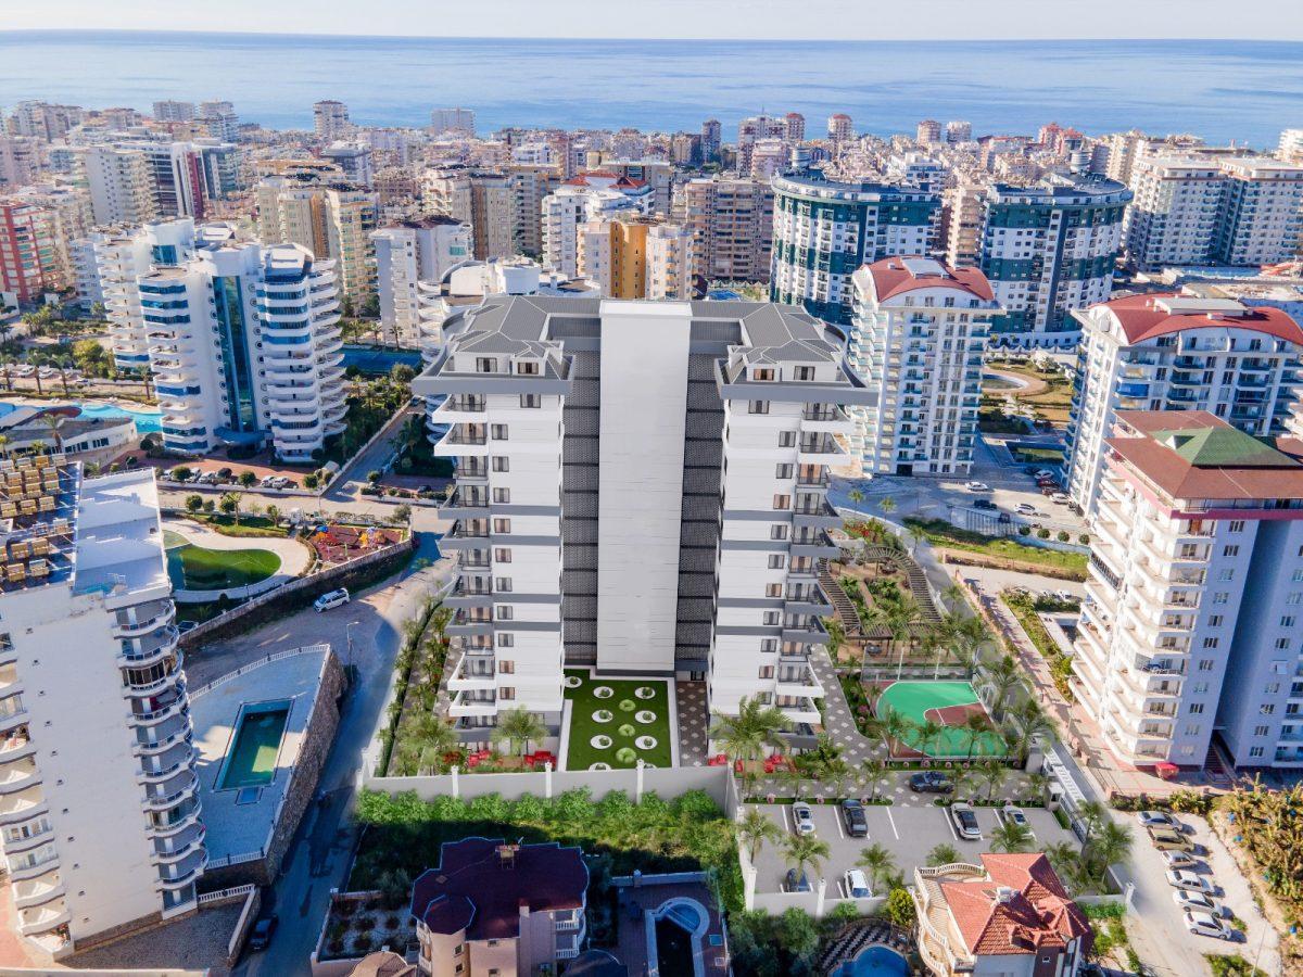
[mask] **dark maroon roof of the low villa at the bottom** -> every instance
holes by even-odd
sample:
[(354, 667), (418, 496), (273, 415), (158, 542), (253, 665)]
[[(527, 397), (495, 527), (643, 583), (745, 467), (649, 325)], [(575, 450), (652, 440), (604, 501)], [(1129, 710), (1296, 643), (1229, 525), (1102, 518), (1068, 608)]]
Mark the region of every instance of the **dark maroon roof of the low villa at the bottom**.
[(511, 939), (520, 935), (523, 905), (532, 913), (584, 905), (588, 866), (579, 848), (520, 845), (508, 868), (500, 845), (487, 838), (446, 842), (439, 866), (421, 873), (412, 887), (412, 914), (435, 933)]

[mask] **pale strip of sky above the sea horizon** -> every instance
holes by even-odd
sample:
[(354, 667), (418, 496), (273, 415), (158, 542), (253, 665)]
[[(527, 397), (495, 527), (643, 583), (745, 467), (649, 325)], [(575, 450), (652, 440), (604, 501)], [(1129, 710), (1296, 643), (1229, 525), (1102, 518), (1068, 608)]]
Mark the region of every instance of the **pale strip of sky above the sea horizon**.
[(1299, 0), (0, 0), (0, 30), (403, 36), (1303, 40)]

